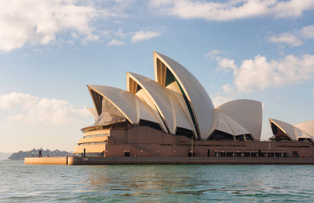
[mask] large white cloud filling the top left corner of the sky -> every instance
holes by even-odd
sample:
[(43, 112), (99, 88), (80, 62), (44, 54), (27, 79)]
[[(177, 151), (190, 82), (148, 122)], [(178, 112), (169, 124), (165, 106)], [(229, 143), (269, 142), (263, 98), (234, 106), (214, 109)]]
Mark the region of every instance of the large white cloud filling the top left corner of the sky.
[(67, 34), (82, 42), (97, 41), (99, 35), (93, 22), (101, 17), (125, 16), (124, 2), (113, 2), (98, 9), (79, 0), (2, 0), (0, 1), (0, 51), (8, 52), (25, 44), (49, 44), (58, 34)]

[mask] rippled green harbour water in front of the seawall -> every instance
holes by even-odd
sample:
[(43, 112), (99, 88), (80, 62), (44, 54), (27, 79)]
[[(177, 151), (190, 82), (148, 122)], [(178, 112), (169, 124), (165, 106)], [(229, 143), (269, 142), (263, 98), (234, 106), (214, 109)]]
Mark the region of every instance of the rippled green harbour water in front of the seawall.
[(0, 202), (314, 202), (311, 165), (24, 165), (0, 161)]

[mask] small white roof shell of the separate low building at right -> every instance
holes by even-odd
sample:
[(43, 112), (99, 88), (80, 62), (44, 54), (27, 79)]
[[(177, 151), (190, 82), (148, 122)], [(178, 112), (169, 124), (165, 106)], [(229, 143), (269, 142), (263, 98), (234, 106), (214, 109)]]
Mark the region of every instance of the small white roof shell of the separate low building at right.
[(299, 138), (311, 138), (304, 131), (282, 120), (269, 118), (269, 122), (280, 128), (280, 130), (282, 130), (291, 140), (298, 140)]

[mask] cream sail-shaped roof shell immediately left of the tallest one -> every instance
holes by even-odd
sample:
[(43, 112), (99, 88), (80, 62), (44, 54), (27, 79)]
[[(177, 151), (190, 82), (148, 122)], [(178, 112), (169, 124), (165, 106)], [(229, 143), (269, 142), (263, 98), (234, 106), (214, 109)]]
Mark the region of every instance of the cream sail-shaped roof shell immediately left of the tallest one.
[[(130, 82), (130, 78), (142, 88), (139, 90), (139, 94), (142, 95), (145, 102), (148, 104), (152, 102), (158, 109), (165, 125), (169, 129), (169, 133), (175, 134), (177, 127), (194, 130), (176, 97), (165, 87), (143, 75), (127, 72), (127, 90), (136, 94), (138, 93), (135, 87), (138, 89), (138, 85)], [(147, 96), (141, 93), (143, 91), (145, 91)]]

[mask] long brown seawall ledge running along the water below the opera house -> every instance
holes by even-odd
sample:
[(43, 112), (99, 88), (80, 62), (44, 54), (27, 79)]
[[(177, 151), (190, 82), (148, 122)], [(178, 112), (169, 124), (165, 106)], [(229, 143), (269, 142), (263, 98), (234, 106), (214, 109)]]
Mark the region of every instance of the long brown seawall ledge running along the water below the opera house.
[(314, 165), (314, 157), (68, 157), (68, 165)]

